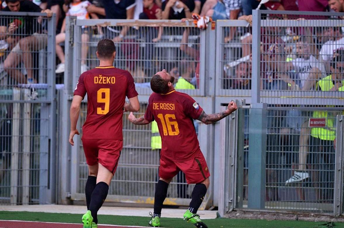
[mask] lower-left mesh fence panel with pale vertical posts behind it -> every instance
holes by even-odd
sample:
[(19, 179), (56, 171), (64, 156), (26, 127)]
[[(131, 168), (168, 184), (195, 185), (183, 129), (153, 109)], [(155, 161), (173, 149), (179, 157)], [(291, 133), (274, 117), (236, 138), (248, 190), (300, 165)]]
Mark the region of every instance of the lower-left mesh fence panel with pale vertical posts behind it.
[(40, 172), (48, 171), (40, 158), (49, 152), (41, 146), (49, 137), (41, 127), (49, 119), (40, 115), (40, 104), (1, 104), (0, 204), (38, 204), (40, 188), (47, 188), (40, 184)]

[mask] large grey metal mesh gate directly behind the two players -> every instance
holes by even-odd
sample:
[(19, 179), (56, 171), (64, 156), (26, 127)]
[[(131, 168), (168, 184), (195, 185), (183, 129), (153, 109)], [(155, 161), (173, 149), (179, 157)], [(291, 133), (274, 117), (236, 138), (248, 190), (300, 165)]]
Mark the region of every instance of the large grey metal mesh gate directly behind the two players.
[[(212, 112), (213, 101), (205, 97), (205, 68), (206, 68), (206, 36), (208, 31), (194, 28), (190, 21), (134, 21), (134, 20), (75, 20), (67, 17), (67, 31), (65, 42), (66, 63), (65, 88), (61, 99), (69, 107), (76, 81), (82, 70), (82, 65), (94, 68), (98, 64), (95, 55), (97, 42), (101, 38), (114, 38), (122, 29), (127, 33), (123, 40), (115, 42), (117, 49), (115, 66), (126, 69), (133, 75), (141, 102), (141, 111), (136, 115), (143, 115), (151, 94), (150, 77), (159, 69), (166, 69), (174, 74), (176, 80), (183, 77), (186, 83), (179, 89), (195, 96), (197, 102), (204, 104), (207, 112)], [(161, 36), (159, 31), (162, 32)], [(69, 33), (69, 34), (67, 34)], [(71, 36), (71, 34), (73, 34)], [(85, 35), (87, 34), (87, 35)], [(159, 38), (158, 38), (159, 37)], [(157, 40), (155, 40), (158, 38)], [(87, 53), (84, 52), (87, 50)], [(72, 79), (71, 79), (72, 78)], [(181, 81), (181, 80), (180, 80)], [(84, 100), (86, 102), (87, 99)], [(81, 125), (86, 118), (86, 103), (80, 110)], [(68, 118), (68, 111), (61, 113), (62, 118)], [(151, 125), (137, 127), (127, 120), (128, 113), (123, 117), (123, 150), (118, 163), (116, 175), (111, 182), (107, 201), (109, 202), (137, 202), (152, 204), (155, 183), (158, 181), (159, 149), (151, 148)], [(61, 122), (61, 129), (69, 129), (67, 122)], [(211, 129), (195, 122), (198, 129), (201, 148), (205, 157), (212, 159), (211, 140), (202, 140), (211, 136)], [(201, 131), (202, 129), (202, 131)], [(82, 132), (80, 132), (82, 133)], [(62, 136), (63, 137), (63, 136)], [(212, 138), (212, 137), (209, 137)], [(62, 151), (70, 151), (64, 144)], [(205, 149), (209, 148), (209, 149)], [(72, 200), (84, 200), (84, 185), (87, 180), (87, 164), (80, 138), (76, 140), (70, 155), (72, 166), (70, 185), (62, 184), (61, 198), (70, 196)], [(68, 162), (65, 160), (65, 162)], [(61, 166), (64, 162), (61, 162)], [(209, 164), (209, 169), (212, 164)], [(64, 171), (63, 171), (64, 172)], [(65, 175), (65, 174), (64, 174)], [(66, 190), (68, 189), (68, 190)], [(64, 194), (63, 192), (67, 192)], [(182, 173), (177, 175), (170, 184), (166, 204), (189, 205), (192, 187), (186, 185)], [(202, 208), (212, 206), (212, 191), (209, 191)]]

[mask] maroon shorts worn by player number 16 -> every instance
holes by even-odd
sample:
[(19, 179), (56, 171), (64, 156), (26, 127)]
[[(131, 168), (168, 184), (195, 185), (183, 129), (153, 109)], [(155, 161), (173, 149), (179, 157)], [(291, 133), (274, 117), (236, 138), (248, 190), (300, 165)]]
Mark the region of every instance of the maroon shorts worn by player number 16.
[(159, 177), (171, 179), (182, 170), (186, 177), (187, 184), (197, 184), (210, 177), (207, 162), (204, 159), (201, 150), (196, 152), (191, 160), (172, 161), (166, 157), (160, 157)]

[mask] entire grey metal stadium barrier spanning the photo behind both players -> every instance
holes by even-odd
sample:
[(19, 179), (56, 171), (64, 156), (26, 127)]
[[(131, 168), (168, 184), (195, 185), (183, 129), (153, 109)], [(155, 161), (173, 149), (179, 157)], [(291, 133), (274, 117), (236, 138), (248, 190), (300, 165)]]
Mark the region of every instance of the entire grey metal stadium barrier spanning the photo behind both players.
[[(6, 18), (7, 14), (0, 15)], [(14, 13), (12, 17), (18, 15)], [(308, 18), (299, 19), (302, 15)], [(336, 65), (339, 71), (333, 75), (341, 75), (344, 68), (340, 59), (323, 61), (323, 56), (331, 53), (312, 52), (315, 59), (305, 56), (315, 50), (311, 47), (318, 45), (318, 51), (319, 47), (321, 50), (320, 43), (311, 42), (315, 37), (323, 44), (326, 39), (340, 38), (342, 20), (333, 17), (342, 14), (324, 13), (323, 18), (309, 18), (310, 15), (254, 11), (252, 28), (246, 21), (220, 20), (209, 24), (206, 30), (194, 28), (189, 21), (67, 17), (64, 85), (56, 93), (52, 80), (55, 78), (53, 22), (37, 18), (43, 14), (33, 14), (31, 17), (37, 23), (46, 21), (41, 27), (47, 30), (47, 46), (41, 43), (41, 49), (30, 52), (32, 67), (27, 69), (29, 63), (24, 61), (18, 66), (6, 65), (6, 71), (1, 73), (1, 203), (35, 204), (56, 199), (67, 204), (70, 200), (84, 200), (87, 165), (80, 137), (74, 147), (68, 144), (69, 106), (80, 72), (97, 66), (97, 42), (117, 37), (115, 66), (132, 73), (140, 94), (140, 114), (144, 113), (151, 93), (149, 78), (163, 68), (190, 82), (191, 86), (187, 84), (179, 90), (193, 96), (207, 113), (218, 112), (232, 99), (241, 107), (230, 118), (212, 126), (196, 121), (213, 183), (202, 208), (219, 206), (221, 215), (234, 208), (340, 215), (343, 169), (335, 167), (342, 166), (343, 92), (325, 90), (323, 85), (332, 81), (326, 79), (332, 66)], [(123, 29), (125, 36), (119, 39)], [(305, 47), (309, 43), (310, 47)], [(9, 50), (4, 53), (8, 55)], [(295, 61), (297, 57), (304, 61)], [(298, 78), (304, 73), (302, 70), (308, 70), (300, 63), (307, 60), (320, 73), (312, 71), (309, 77)], [(15, 83), (11, 73), (20, 76), (17, 69), (24, 73), (29, 70), (29, 74), (32, 69), (37, 83), (29, 86), (25, 82)], [(53, 115), (55, 99), (57, 121)], [(80, 130), (86, 118), (86, 101), (87, 98), (80, 110)], [(150, 125), (133, 126), (127, 115), (123, 116), (122, 156), (107, 201), (152, 204), (159, 150), (151, 148)], [(333, 143), (325, 146), (326, 156), (314, 155), (324, 145), (310, 137), (316, 133), (312, 133), (315, 128), (310, 126), (312, 118), (320, 119), (315, 120), (320, 123), (325, 119), (325, 127), (335, 132), (336, 142), (327, 140)], [(249, 160), (255, 162), (250, 164)], [(307, 180), (286, 185), (295, 171), (302, 170), (301, 166), (305, 166), (309, 175)], [(188, 205), (191, 190), (182, 175), (175, 177), (166, 204)], [(29, 201), (25, 201), (28, 192)]]

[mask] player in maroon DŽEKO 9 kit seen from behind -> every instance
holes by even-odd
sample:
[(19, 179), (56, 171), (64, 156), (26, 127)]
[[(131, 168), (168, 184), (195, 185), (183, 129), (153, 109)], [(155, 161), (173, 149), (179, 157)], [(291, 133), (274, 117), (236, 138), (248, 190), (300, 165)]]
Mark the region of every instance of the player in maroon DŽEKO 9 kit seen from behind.
[[(87, 117), (83, 126), (82, 142), (88, 165), (85, 186), (87, 213), (84, 228), (97, 227), (97, 212), (108, 194), (123, 146), (122, 118), (125, 111), (138, 111), (140, 104), (132, 76), (126, 70), (112, 66), (116, 55), (112, 40), (98, 42), (99, 67), (80, 75), (71, 105), (71, 133), (79, 135), (76, 123), (81, 101), (87, 93)], [(129, 103), (125, 103), (126, 96)]]

